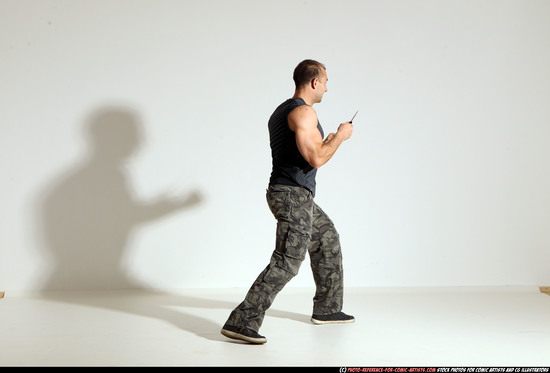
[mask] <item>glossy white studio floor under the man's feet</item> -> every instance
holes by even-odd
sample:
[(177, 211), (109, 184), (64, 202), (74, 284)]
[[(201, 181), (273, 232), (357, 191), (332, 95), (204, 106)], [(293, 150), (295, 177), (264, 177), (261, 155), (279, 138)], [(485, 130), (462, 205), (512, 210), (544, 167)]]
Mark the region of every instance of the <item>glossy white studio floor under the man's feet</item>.
[(309, 322), (286, 288), (260, 333), (220, 333), (245, 289), (51, 292), (0, 299), (0, 366), (550, 366), (550, 296), (536, 288), (347, 289), (356, 322)]

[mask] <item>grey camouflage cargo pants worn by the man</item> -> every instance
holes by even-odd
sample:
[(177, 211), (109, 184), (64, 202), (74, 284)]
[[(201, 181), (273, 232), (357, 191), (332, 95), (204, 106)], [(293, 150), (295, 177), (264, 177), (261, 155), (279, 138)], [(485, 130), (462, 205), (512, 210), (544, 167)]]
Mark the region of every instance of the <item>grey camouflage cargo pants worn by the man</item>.
[(306, 252), (316, 285), (313, 313), (341, 311), (342, 254), (338, 232), (330, 218), (313, 201), (311, 192), (300, 187), (270, 186), (267, 203), (277, 219), (275, 251), (226, 324), (258, 331), (275, 296), (298, 274)]

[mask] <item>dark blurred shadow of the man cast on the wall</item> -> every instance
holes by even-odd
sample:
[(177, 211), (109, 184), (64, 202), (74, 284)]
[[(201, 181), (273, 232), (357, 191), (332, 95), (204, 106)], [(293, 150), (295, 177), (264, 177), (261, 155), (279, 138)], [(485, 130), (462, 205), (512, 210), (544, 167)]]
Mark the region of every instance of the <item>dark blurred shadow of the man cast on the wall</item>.
[(132, 110), (98, 110), (86, 132), (88, 155), (54, 183), (41, 206), (44, 239), (54, 262), (43, 288), (139, 288), (123, 268), (132, 231), (197, 205), (200, 194), (154, 202), (132, 197), (124, 166), (142, 142), (142, 124)]

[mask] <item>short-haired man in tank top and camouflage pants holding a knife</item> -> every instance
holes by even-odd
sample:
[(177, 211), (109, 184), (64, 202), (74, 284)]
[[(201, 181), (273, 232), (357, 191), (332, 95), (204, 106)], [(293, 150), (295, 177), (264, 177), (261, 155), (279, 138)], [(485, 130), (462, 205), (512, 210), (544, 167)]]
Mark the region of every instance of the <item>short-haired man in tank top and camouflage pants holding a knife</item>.
[(317, 169), (350, 138), (353, 125), (340, 124), (338, 131), (323, 141), (323, 129), (312, 105), (320, 103), (327, 92), (326, 69), (317, 61), (305, 60), (294, 70), (293, 79), (294, 96), (275, 110), (268, 124), (273, 169), (267, 202), (277, 219), (275, 251), (221, 330), (228, 338), (256, 344), (267, 342), (258, 334), (265, 311), (298, 273), (306, 252), (316, 285), (311, 321), (355, 321), (353, 316), (341, 312), (343, 273), (338, 233), (313, 201)]

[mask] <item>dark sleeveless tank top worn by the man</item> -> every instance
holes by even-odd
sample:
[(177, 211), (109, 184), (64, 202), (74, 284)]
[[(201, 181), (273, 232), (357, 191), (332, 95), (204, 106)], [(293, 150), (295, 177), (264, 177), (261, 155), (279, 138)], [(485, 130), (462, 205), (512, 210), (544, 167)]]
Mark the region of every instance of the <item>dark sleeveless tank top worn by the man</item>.
[[(298, 106), (307, 105), (301, 98), (290, 98), (283, 102), (269, 118), (269, 143), (271, 146), (272, 171), (270, 185), (284, 184), (300, 186), (315, 195), (317, 169), (302, 157), (296, 145), (296, 135), (288, 126), (288, 115)], [(324, 137), (323, 128), (317, 128)]]

